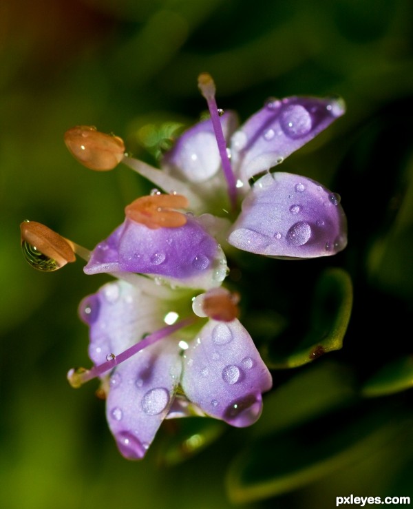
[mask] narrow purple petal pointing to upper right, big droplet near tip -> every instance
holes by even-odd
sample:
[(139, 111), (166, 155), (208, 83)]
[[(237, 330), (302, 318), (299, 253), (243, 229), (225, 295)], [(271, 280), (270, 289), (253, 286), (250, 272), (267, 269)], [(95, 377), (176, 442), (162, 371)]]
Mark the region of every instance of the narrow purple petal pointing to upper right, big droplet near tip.
[(268, 101), (231, 139), (238, 177), (248, 178), (282, 163), (345, 111), (342, 100), (287, 97)]

